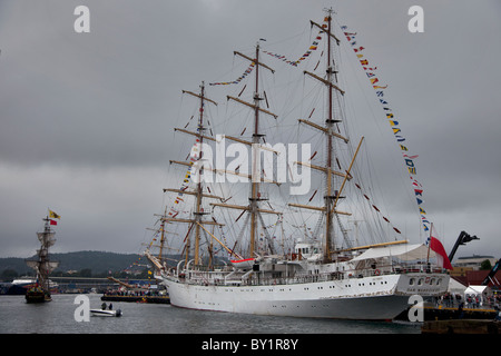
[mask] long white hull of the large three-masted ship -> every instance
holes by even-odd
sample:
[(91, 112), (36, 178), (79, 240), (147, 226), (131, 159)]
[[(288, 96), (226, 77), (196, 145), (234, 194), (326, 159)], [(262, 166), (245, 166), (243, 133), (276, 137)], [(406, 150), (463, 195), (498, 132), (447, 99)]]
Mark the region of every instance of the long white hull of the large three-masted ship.
[[(386, 275), (287, 285), (196, 285), (165, 277), (177, 307), (312, 318), (385, 320), (410, 306), (412, 295), (443, 294), (443, 274)], [(421, 281), (420, 281), (421, 280)]]

